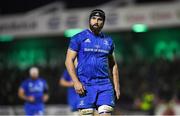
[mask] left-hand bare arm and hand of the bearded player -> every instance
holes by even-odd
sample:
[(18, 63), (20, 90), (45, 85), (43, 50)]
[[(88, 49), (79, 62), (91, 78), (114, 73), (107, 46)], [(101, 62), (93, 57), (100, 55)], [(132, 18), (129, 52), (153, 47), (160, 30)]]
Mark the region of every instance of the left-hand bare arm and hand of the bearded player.
[(65, 65), (68, 70), (69, 75), (71, 76), (73, 83), (74, 83), (74, 88), (78, 94), (83, 94), (84, 93), (84, 87), (82, 83), (79, 81), (76, 71), (75, 71), (75, 64), (74, 60), (76, 59), (77, 52), (71, 50), (70, 48), (67, 50), (67, 55), (66, 55), (66, 61)]

